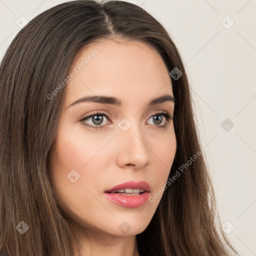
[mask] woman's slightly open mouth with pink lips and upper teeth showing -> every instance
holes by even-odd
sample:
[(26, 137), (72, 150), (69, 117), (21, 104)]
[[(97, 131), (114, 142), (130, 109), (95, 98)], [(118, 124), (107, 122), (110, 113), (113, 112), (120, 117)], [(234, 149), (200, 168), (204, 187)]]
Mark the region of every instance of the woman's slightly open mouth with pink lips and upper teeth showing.
[(150, 190), (150, 185), (145, 181), (128, 181), (107, 189), (104, 196), (120, 206), (135, 208), (148, 200)]

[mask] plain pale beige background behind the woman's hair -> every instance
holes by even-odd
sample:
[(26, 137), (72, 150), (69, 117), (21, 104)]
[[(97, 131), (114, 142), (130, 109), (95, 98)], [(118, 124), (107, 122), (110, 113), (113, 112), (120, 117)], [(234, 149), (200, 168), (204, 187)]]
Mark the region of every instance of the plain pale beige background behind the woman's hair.
[[(0, 59), (26, 19), (61, 2), (0, 0)], [(256, 0), (130, 2), (156, 17), (180, 50), (223, 230), (241, 255), (256, 255)]]

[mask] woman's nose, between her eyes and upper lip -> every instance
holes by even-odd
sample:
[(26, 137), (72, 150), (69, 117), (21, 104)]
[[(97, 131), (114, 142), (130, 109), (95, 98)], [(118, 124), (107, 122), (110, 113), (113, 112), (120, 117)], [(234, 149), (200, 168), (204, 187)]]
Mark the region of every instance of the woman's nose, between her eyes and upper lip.
[(150, 146), (145, 141), (142, 132), (135, 125), (117, 132), (117, 164), (120, 168), (144, 167), (149, 160)]

